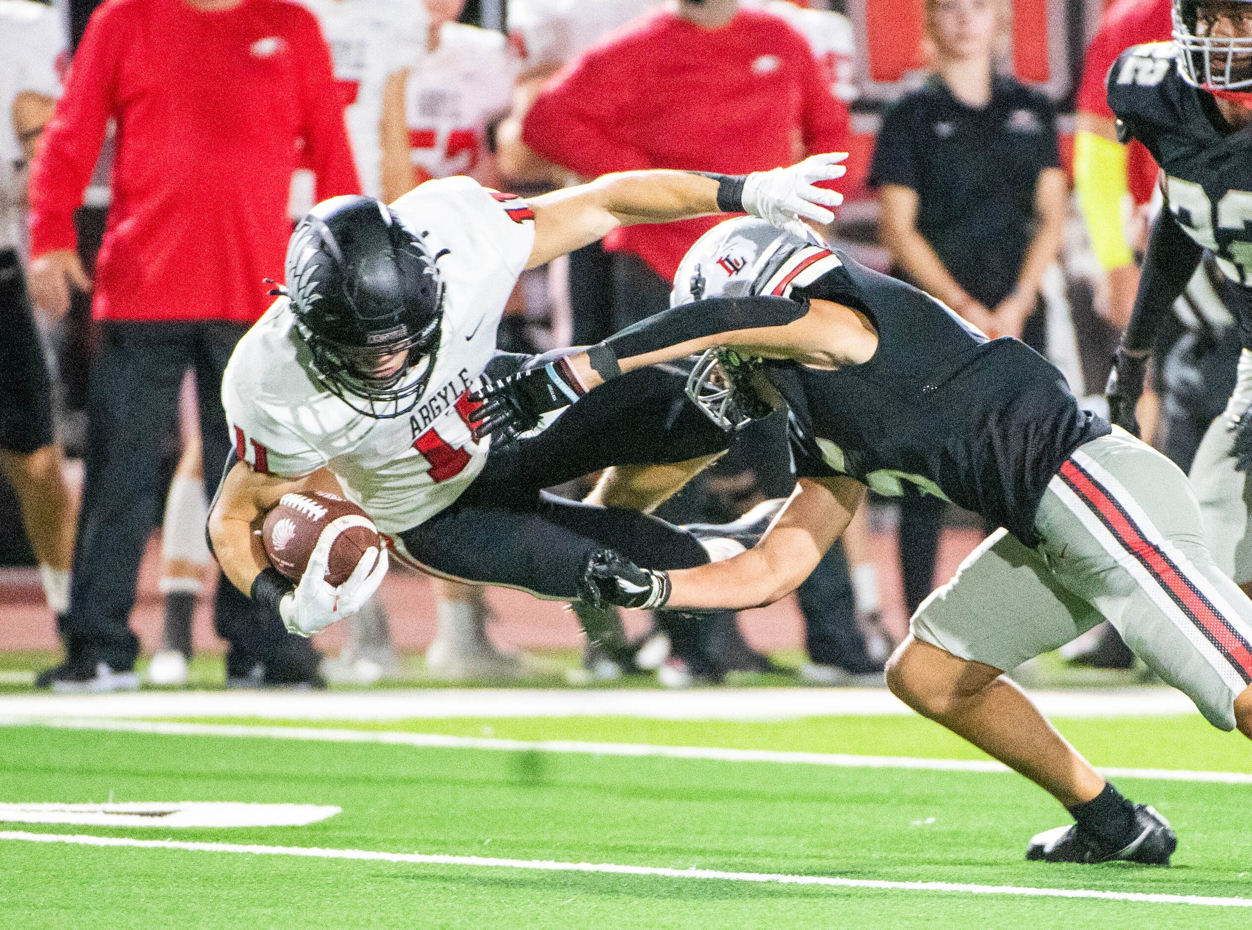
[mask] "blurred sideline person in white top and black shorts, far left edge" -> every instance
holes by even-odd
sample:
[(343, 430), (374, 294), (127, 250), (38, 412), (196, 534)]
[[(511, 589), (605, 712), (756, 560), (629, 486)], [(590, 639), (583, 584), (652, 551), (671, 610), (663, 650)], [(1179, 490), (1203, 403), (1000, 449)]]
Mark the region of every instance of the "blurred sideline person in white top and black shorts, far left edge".
[(64, 636), (76, 503), (53, 423), (53, 378), (23, 273), (28, 164), (61, 93), (58, 13), (0, 0), (0, 472), (21, 507), (39, 580)]

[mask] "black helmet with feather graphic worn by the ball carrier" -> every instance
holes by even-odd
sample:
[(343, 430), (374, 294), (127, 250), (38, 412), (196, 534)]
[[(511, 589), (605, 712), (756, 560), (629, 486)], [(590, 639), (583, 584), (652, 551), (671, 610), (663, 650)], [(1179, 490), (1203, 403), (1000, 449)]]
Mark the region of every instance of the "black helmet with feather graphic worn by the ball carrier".
[[(438, 258), (368, 197), (323, 200), (292, 233), (285, 293), (299, 333), (322, 382), (358, 413), (389, 419), (421, 401), (443, 319)], [(371, 373), (398, 353), (394, 372)]]

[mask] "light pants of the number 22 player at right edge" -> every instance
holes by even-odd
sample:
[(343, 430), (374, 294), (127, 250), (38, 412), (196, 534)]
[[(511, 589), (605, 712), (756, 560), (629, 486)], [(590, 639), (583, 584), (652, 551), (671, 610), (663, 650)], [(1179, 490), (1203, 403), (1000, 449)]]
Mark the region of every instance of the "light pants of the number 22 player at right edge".
[(1208, 424), (1191, 466), (1204, 536), (1217, 567), (1236, 583), (1252, 581), (1252, 474), (1234, 468), (1234, 427), (1252, 407), (1252, 352), (1239, 354), (1238, 378), (1226, 411)]

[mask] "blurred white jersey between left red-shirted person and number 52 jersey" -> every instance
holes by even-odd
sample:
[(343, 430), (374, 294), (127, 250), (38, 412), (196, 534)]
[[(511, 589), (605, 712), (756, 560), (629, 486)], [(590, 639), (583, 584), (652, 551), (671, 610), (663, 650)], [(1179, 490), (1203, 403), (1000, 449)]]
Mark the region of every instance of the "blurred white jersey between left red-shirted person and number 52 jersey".
[[(299, 0), (322, 26), (348, 126), (361, 188), (382, 190), (383, 86), (387, 76), (419, 61), (426, 49), (422, 0)], [(308, 207), (310, 204), (304, 204)], [(305, 209), (297, 209), (303, 215)]]

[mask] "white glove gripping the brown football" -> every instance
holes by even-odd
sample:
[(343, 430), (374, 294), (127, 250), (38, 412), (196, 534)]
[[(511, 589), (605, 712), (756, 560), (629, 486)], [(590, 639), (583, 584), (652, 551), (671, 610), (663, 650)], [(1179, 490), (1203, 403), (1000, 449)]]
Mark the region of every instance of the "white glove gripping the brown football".
[(368, 526), (358, 516), (348, 514), (332, 521), (318, 537), (309, 563), (300, 576), (295, 591), (283, 595), (278, 602), (278, 612), (283, 626), (289, 633), (312, 636), (331, 626), (337, 620), (351, 617), (361, 610), (387, 575), (387, 549), (371, 546), (361, 553), (361, 561), (352, 575), (339, 587), (333, 587), (326, 580), (327, 565), (331, 561), (331, 547), (339, 533), (349, 526)]

